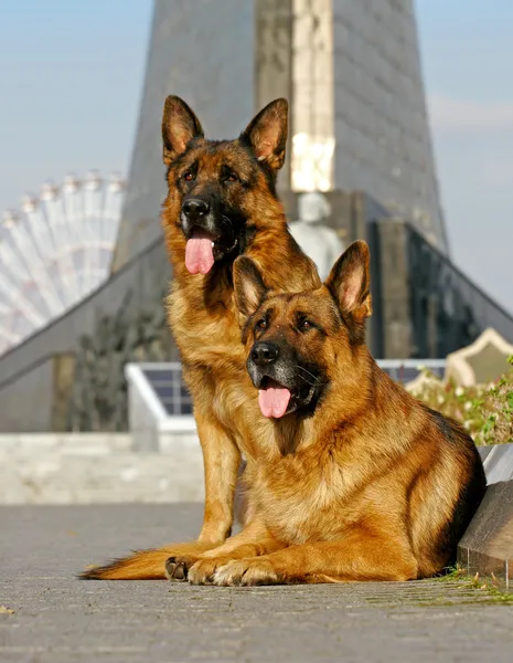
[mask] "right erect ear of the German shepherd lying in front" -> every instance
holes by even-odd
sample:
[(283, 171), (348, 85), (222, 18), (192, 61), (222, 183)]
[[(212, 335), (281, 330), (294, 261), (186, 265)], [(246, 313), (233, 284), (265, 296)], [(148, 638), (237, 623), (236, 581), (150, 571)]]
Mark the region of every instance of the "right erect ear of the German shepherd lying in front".
[(324, 284), (341, 311), (359, 322), (372, 315), (370, 259), (367, 243), (353, 242), (335, 262)]

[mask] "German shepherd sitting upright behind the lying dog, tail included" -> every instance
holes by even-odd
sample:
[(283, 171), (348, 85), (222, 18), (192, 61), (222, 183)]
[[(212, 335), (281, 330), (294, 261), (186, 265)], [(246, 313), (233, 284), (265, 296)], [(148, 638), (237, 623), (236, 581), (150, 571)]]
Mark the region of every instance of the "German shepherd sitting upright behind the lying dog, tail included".
[(276, 193), (277, 173), (285, 161), (287, 114), (287, 101), (276, 99), (237, 139), (207, 140), (185, 102), (177, 96), (165, 101), (162, 140), (168, 197), (162, 223), (173, 267), (169, 322), (202, 444), (203, 527), (196, 541), (142, 550), (89, 569), (83, 578), (163, 579), (168, 557), (197, 556), (231, 534), (242, 452), (252, 456), (259, 444), (253, 432), (258, 403), (233, 301), (234, 260), (250, 255), (277, 291), (320, 285), (313, 262), (287, 229)]

